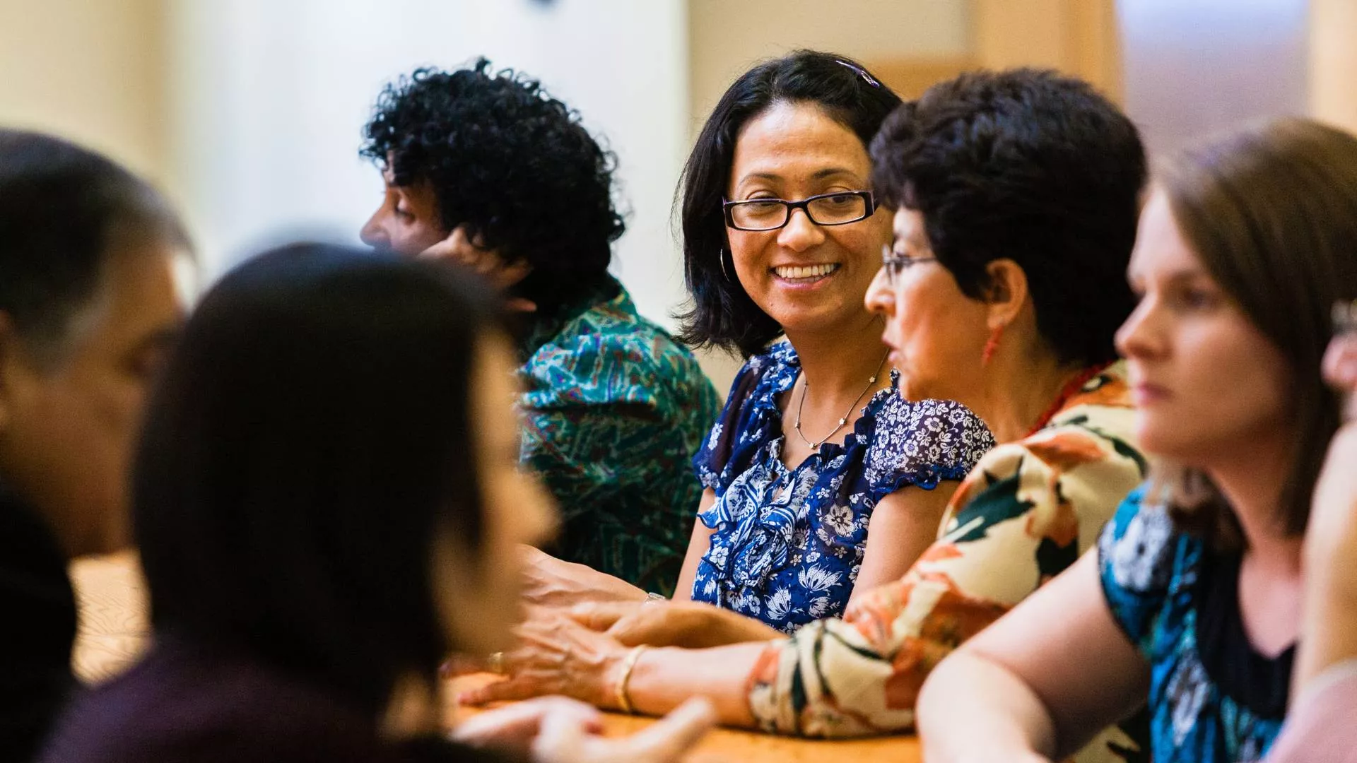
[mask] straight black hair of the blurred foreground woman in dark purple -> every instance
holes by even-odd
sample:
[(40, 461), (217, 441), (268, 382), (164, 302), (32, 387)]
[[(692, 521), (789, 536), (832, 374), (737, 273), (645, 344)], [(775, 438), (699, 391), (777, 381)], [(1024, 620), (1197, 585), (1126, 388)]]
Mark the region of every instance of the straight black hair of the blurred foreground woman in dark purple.
[(296, 244), (190, 318), (133, 470), (157, 633), (380, 711), (449, 649), (433, 543), (479, 553), (470, 411), (497, 300), (446, 263)]

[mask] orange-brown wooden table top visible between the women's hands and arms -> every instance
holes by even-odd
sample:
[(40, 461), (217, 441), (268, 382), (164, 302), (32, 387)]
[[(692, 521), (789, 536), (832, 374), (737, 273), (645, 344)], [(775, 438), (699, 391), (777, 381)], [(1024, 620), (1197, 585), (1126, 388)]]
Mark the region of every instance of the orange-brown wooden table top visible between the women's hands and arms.
[[(489, 673), (455, 679), (446, 687), (446, 696), (456, 696), (459, 691), (493, 680), (495, 676)], [(452, 725), (456, 717), (465, 718), (479, 711), (476, 707), (456, 707), (449, 702), (448, 722)], [(624, 736), (639, 732), (653, 722), (654, 718), (643, 715), (604, 713), (604, 733)], [(708, 732), (684, 760), (685, 763), (874, 763), (877, 760), (919, 763), (923, 760), (923, 753), (919, 751), (919, 740), (913, 736), (813, 740), (718, 728)]]

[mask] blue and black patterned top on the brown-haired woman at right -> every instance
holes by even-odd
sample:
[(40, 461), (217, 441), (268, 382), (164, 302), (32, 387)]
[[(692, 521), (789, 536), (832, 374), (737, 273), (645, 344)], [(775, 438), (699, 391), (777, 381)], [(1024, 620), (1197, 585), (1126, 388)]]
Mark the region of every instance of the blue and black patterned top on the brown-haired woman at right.
[(1098, 540), (1107, 606), (1149, 663), (1155, 763), (1259, 760), (1281, 729), (1293, 649), (1263, 657), (1239, 616), (1238, 555), (1179, 531), (1137, 489)]

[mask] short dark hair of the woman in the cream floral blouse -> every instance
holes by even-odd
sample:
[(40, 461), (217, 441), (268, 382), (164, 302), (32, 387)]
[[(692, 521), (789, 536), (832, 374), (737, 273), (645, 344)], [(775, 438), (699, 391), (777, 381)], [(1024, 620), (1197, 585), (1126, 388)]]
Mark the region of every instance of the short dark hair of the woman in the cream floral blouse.
[(1037, 69), (961, 75), (892, 114), (871, 157), (878, 198), (923, 213), (966, 296), (984, 299), (985, 266), (1012, 259), (1063, 362), (1115, 360), (1136, 305), (1126, 265), (1145, 151), (1092, 86)]

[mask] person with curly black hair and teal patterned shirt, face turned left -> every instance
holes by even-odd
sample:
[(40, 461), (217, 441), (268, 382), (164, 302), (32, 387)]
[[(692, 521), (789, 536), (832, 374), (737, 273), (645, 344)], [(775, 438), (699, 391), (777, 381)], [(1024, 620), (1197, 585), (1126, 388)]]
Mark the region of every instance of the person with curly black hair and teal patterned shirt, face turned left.
[(364, 242), (468, 263), (527, 322), (522, 462), (560, 505), (556, 551), (672, 591), (702, 497), (689, 459), (718, 399), (608, 274), (626, 229), (616, 157), (537, 81), (484, 58), (387, 86), (365, 136), (387, 193)]

